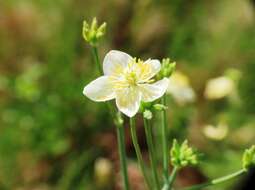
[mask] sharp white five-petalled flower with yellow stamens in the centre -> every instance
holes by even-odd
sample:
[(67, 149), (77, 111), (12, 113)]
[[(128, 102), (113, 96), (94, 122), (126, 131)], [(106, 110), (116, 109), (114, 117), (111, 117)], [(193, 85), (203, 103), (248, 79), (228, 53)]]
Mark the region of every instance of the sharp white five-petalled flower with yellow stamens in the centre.
[(151, 83), (160, 67), (156, 59), (143, 62), (124, 52), (112, 50), (103, 61), (104, 76), (85, 86), (83, 94), (97, 102), (115, 98), (118, 109), (133, 117), (141, 101), (152, 102), (165, 93), (167, 78)]

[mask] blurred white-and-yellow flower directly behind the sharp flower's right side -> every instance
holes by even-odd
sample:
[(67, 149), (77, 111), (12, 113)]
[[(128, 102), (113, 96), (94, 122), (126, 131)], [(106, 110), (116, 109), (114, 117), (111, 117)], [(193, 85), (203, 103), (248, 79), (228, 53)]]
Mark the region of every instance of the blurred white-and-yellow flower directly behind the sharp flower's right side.
[(175, 71), (169, 80), (167, 93), (171, 94), (178, 104), (185, 104), (195, 101), (196, 94), (189, 84), (186, 75)]

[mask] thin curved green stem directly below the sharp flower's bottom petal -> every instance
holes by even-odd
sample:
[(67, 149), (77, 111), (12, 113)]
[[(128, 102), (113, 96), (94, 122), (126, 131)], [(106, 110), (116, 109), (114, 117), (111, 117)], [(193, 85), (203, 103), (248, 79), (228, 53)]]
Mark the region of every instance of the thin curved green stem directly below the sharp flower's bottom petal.
[(139, 167), (142, 171), (142, 174), (144, 176), (144, 179), (145, 179), (145, 182), (146, 182), (148, 188), (151, 189), (150, 180), (149, 180), (149, 178), (147, 176), (147, 173), (145, 171), (145, 166), (144, 166), (144, 163), (143, 163), (141, 149), (140, 149), (139, 144), (138, 144), (138, 139), (137, 139), (137, 135), (136, 135), (136, 127), (135, 127), (135, 118), (134, 117), (130, 118), (130, 130), (131, 130), (131, 138), (132, 138), (133, 145), (134, 145), (134, 148), (135, 148), (135, 152), (136, 152)]

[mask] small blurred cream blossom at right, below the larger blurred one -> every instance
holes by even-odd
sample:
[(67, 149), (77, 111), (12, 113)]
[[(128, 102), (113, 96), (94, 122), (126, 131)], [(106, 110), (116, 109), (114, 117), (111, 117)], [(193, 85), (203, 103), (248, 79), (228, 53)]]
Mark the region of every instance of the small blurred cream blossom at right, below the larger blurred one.
[(228, 134), (228, 125), (221, 122), (217, 126), (206, 125), (203, 129), (203, 133), (206, 137), (220, 141), (223, 140)]

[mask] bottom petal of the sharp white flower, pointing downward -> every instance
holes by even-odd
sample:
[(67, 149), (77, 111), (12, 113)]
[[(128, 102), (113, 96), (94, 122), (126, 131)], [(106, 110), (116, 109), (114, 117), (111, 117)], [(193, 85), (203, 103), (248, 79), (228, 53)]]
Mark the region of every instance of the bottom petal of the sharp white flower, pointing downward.
[(141, 93), (137, 87), (125, 88), (116, 92), (117, 107), (128, 117), (133, 117), (138, 112), (140, 101)]

